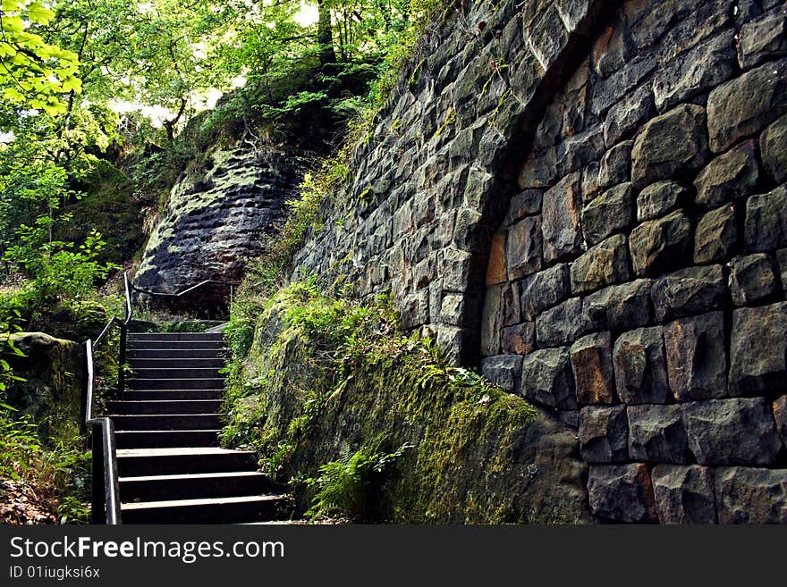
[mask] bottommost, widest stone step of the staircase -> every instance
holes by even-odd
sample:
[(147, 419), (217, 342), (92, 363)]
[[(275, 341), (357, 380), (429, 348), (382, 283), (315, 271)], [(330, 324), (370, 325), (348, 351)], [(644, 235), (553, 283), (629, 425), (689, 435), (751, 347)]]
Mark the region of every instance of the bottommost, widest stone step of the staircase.
[(292, 498), (281, 495), (173, 499), (123, 504), (123, 524), (236, 524), (292, 516)]

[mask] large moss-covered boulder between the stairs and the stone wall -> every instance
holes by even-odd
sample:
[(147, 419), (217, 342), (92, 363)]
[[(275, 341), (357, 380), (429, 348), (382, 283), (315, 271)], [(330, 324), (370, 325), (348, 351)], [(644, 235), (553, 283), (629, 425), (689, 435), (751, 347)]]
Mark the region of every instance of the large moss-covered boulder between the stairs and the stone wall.
[(230, 381), (224, 440), (260, 450), (301, 510), (320, 489), (307, 479), (365, 450), (398, 455), (367, 486), (367, 520), (588, 520), (574, 433), (448, 365), (427, 340), (404, 337), (383, 307), (287, 289), (260, 316)]

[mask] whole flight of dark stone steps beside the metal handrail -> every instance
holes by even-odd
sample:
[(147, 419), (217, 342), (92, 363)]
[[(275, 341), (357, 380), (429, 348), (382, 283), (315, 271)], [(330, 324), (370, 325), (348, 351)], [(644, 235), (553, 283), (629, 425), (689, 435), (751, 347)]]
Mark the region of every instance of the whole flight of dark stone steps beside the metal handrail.
[(285, 520), (292, 499), (257, 472), (255, 453), (219, 448), (220, 333), (130, 333), (134, 373), (110, 401), (123, 524)]

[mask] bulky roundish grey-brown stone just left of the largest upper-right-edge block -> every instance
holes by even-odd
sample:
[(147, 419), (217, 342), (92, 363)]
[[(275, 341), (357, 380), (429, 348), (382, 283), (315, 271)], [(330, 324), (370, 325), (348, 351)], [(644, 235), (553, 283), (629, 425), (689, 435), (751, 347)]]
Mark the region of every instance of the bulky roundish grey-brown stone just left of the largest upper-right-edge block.
[(642, 189), (693, 172), (707, 161), (705, 108), (680, 105), (640, 130), (631, 151), (631, 181)]

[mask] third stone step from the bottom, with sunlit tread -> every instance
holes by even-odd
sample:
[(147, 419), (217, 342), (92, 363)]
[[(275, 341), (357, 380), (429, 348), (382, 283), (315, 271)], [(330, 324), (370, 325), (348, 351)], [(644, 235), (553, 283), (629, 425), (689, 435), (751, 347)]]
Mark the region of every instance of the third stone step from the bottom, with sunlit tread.
[(257, 454), (219, 448), (118, 449), (121, 477), (257, 470)]

